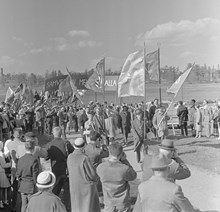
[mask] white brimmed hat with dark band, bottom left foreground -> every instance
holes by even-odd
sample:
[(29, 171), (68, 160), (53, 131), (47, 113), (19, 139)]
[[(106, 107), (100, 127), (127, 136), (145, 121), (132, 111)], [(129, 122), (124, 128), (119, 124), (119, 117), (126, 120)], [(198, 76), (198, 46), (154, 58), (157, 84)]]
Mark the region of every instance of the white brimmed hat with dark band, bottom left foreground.
[(56, 182), (56, 177), (51, 171), (43, 171), (37, 176), (36, 186), (38, 188), (50, 188)]

